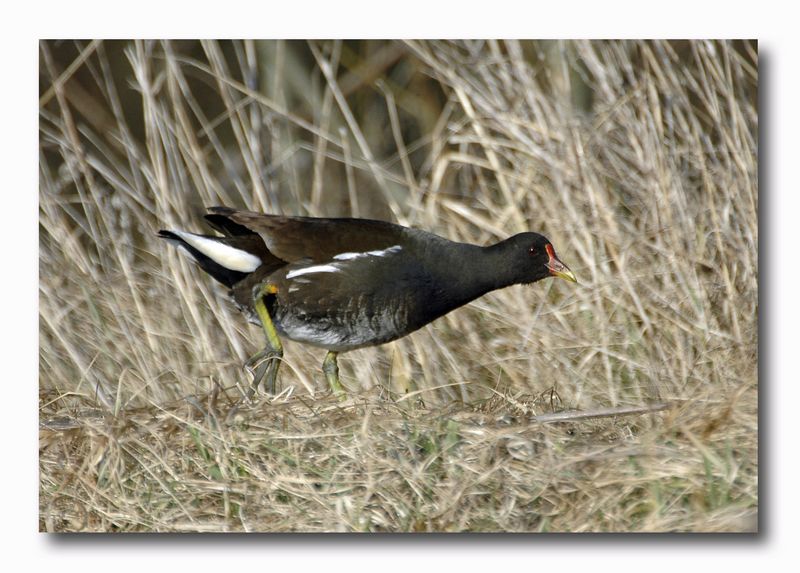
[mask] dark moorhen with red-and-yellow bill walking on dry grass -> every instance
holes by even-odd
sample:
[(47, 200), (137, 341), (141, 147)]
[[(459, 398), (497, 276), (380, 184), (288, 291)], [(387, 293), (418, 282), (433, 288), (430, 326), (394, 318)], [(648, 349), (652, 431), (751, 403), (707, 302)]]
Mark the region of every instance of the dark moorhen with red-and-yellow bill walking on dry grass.
[(555, 276), (577, 282), (547, 238), (520, 233), (487, 247), (370, 219), (284, 217), (211, 207), (222, 236), (159, 231), (230, 289), (266, 347), (247, 362), (250, 396), (274, 393), (280, 336), (328, 351), (322, 368), (343, 396), (339, 352), (396, 340), (479, 296)]

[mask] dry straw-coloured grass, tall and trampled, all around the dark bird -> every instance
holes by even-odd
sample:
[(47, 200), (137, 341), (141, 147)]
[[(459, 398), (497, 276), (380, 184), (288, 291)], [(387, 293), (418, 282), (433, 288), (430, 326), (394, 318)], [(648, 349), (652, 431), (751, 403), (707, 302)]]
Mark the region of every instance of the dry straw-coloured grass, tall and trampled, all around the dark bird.
[[(756, 50), (43, 42), (41, 528), (753, 530)], [(219, 204), (536, 230), (580, 283), (343, 355), (344, 404), (288, 342), (249, 404), (263, 334), (155, 237)]]

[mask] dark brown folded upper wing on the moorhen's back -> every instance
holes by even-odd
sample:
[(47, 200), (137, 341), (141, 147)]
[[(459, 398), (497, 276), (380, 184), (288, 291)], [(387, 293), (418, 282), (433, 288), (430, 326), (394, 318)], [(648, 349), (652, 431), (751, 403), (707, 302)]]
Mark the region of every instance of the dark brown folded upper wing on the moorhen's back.
[(273, 255), (289, 263), (323, 262), (341, 253), (385, 249), (406, 240), (404, 227), (385, 221), (284, 217), (229, 207), (209, 211), (258, 233)]

